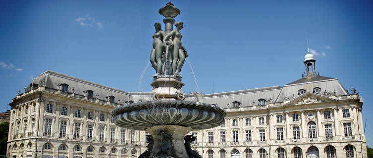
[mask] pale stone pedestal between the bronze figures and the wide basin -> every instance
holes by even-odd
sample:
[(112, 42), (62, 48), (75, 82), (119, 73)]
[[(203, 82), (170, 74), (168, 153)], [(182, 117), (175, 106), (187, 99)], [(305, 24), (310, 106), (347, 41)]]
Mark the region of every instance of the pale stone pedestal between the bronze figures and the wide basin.
[(153, 86), (152, 94), (156, 99), (176, 99), (184, 100), (185, 96), (181, 87), (184, 83), (180, 77), (175, 75), (159, 75), (154, 77), (154, 81), (150, 84)]

